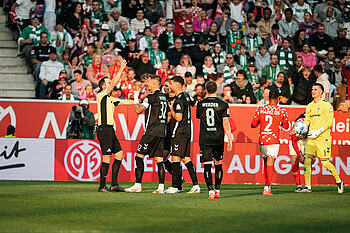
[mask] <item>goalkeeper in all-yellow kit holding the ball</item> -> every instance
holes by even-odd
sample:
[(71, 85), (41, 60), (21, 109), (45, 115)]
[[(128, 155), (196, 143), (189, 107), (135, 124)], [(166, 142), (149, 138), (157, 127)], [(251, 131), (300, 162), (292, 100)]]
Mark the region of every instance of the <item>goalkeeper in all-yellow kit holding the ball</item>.
[(324, 88), (322, 84), (312, 86), (314, 101), (306, 107), (305, 123), (309, 126), (308, 138), (305, 144), (304, 177), (305, 187), (301, 192), (311, 192), (311, 161), (317, 156), (322, 165), (332, 173), (338, 186), (338, 193), (344, 192), (344, 181), (340, 179), (334, 165), (329, 161), (331, 157), (331, 132), (334, 112), (332, 105), (321, 98)]

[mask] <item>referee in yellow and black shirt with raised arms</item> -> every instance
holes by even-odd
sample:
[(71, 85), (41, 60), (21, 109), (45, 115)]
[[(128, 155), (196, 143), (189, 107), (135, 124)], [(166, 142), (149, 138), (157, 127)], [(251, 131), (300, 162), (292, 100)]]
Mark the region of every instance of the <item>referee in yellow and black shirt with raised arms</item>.
[[(103, 162), (100, 169), (100, 187), (98, 188), (99, 192), (124, 192), (124, 189), (120, 187), (117, 182), (120, 164), (124, 158), (124, 154), (113, 129), (114, 106), (117, 106), (119, 102), (116, 98), (110, 96), (110, 93), (117, 85), (120, 76), (126, 67), (126, 61), (121, 57), (118, 59), (120, 60), (121, 65), (117, 75), (113, 78), (113, 80), (110, 80), (107, 77), (103, 77), (98, 81), (98, 86), (101, 92), (97, 95), (97, 139), (100, 142), (103, 155)], [(106, 177), (112, 154), (115, 155), (115, 159), (112, 166), (111, 189), (108, 189), (106, 186)]]

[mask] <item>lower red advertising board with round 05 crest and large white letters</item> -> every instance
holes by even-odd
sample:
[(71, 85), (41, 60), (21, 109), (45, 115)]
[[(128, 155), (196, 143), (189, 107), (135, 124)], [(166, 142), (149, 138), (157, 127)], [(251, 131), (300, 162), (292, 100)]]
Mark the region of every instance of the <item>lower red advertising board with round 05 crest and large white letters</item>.
[[(138, 144), (135, 141), (121, 141), (121, 145), (125, 158), (119, 173), (119, 181), (134, 182), (134, 156)], [(88, 181), (99, 179), (102, 155), (97, 141), (56, 140), (55, 147), (55, 180)], [(332, 147), (332, 162), (346, 184), (350, 183), (350, 158), (346, 157), (344, 152), (349, 149), (350, 146)], [(225, 151), (223, 183), (262, 184), (264, 182), (264, 165), (259, 154), (257, 143), (250, 143), (249, 146), (246, 143), (235, 143), (231, 152)], [(204, 183), (204, 168), (199, 162), (199, 158), (199, 145), (198, 143), (192, 143), (191, 159), (197, 168), (199, 182)], [(157, 166), (154, 160), (146, 156), (144, 163), (143, 181), (157, 182)], [(301, 174), (303, 174), (302, 166), (300, 169)], [(185, 166), (183, 166), (183, 177), (187, 182), (191, 182)], [(303, 176), (301, 179), (303, 182)], [(111, 172), (109, 172), (107, 180), (111, 180)], [(171, 182), (171, 177), (168, 173), (166, 181)], [(281, 146), (280, 154), (275, 163), (275, 175), (272, 182), (277, 184), (294, 184), (287, 145)], [(333, 176), (322, 167), (319, 160), (316, 160), (313, 165), (312, 184), (334, 184)]]

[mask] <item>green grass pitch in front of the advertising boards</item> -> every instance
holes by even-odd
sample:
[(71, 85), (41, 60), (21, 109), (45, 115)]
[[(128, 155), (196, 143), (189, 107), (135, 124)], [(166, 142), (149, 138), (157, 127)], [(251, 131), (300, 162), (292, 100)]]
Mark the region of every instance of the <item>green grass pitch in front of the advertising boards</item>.
[(98, 193), (97, 182), (0, 181), (0, 232), (350, 232), (348, 186), (338, 194), (277, 185), (263, 196), (262, 185), (230, 184), (215, 200), (200, 186), (201, 194), (152, 194), (156, 183)]

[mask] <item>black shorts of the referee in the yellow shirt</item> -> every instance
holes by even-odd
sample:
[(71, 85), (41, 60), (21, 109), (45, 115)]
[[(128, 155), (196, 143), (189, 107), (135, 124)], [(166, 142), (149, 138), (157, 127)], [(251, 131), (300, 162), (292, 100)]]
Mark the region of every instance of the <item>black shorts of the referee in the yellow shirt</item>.
[(116, 154), (122, 150), (113, 126), (111, 125), (98, 126), (97, 139), (100, 142), (102, 155)]

